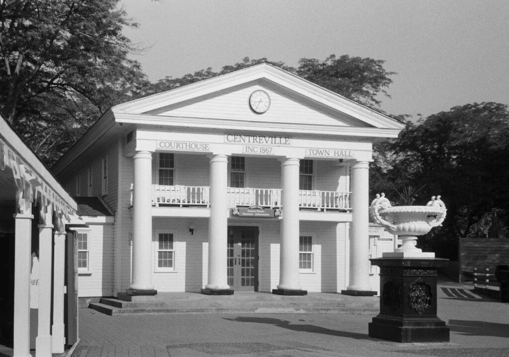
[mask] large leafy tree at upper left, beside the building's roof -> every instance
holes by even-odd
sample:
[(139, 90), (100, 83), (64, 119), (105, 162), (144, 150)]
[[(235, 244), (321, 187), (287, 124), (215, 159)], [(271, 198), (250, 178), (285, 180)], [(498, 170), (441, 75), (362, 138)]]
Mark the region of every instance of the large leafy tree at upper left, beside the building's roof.
[(107, 108), (148, 81), (118, 0), (0, 3), (0, 112), (41, 159), (58, 159)]

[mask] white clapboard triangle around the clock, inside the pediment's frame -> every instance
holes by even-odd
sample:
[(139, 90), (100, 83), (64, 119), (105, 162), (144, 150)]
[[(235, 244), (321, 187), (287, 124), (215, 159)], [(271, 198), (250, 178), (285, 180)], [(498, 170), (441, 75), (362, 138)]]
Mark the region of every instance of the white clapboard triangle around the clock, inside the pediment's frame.
[[(271, 100), (270, 108), (263, 115), (253, 113), (248, 106), (249, 95), (258, 89), (266, 91)], [(184, 103), (185, 104), (185, 103)], [(291, 98), (277, 90), (260, 85), (253, 85), (240, 90), (204, 99), (167, 110), (161, 115), (176, 115), (203, 118), (219, 118), (225, 120), (238, 120), (266, 123), (288, 123), (316, 125), (359, 125), (344, 114), (335, 113), (336, 117), (319, 110), (310, 103), (304, 103), (297, 98)]]

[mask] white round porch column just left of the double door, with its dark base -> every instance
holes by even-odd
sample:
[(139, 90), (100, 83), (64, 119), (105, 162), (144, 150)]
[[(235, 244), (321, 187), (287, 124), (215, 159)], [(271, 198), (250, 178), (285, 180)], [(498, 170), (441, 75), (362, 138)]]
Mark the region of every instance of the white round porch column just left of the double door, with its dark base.
[(228, 285), (228, 157), (214, 155), (210, 159), (210, 218), (207, 285), (203, 294), (231, 295)]

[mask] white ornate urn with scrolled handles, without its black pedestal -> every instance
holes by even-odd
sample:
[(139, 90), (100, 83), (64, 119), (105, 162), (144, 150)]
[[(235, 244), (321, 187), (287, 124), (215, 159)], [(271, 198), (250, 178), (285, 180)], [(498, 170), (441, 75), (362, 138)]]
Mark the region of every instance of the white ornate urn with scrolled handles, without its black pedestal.
[(433, 196), (426, 206), (392, 206), (385, 195), (377, 195), (370, 206), (373, 220), (402, 240), (402, 246), (383, 257), (434, 258), (435, 253), (423, 253), (416, 248), (417, 236), (440, 226), (447, 210), (440, 196)]

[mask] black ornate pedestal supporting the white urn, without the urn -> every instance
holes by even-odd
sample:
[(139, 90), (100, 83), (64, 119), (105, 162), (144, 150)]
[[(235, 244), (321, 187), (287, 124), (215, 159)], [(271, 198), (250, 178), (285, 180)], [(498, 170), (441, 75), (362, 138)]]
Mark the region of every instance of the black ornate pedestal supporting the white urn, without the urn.
[(369, 336), (395, 342), (448, 342), (449, 328), (437, 316), (437, 270), (448, 259), (377, 258), (380, 314)]

